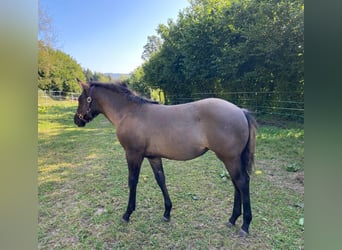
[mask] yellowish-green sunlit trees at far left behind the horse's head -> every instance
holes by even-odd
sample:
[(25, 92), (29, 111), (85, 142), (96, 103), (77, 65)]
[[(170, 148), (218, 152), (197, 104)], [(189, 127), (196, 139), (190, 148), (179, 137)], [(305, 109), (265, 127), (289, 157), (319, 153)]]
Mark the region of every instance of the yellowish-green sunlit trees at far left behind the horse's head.
[(79, 92), (76, 78), (85, 80), (81, 66), (71, 56), (38, 42), (38, 87), (42, 90)]

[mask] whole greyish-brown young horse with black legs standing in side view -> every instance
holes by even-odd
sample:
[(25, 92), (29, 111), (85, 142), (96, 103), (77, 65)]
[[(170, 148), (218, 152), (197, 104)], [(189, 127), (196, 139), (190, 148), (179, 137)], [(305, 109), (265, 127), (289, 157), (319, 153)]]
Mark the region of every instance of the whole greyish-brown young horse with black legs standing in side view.
[(79, 83), (83, 92), (78, 98), (75, 124), (84, 127), (98, 114), (104, 114), (116, 127), (126, 152), (130, 192), (124, 221), (128, 222), (135, 210), (144, 158), (149, 160), (163, 193), (164, 220), (169, 221), (172, 203), (162, 158), (185, 161), (212, 150), (225, 164), (235, 188), (234, 208), (227, 224), (235, 225), (243, 207), (239, 234), (248, 234), (252, 220), (249, 172), (254, 160), (256, 123), (247, 110), (215, 98), (166, 106), (135, 95), (124, 84)]

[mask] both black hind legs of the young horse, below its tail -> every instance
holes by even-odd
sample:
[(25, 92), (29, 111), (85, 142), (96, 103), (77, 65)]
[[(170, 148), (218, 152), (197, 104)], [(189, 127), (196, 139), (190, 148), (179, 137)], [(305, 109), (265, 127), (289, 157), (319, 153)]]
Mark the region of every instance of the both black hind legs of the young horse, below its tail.
[(246, 236), (249, 230), (249, 224), (252, 221), (252, 210), (249, 194), (249, 175), (246, 169), (241, 166), (241, 160), (225, 162), (226, 168), (232, 178), (235, 188), (234, 192), (234, 208), (232, 216), (229, 218), (228, 225), (235, 225), (237, 218), (241, 215), (241, 207), (243, 209), (243, 223), (239, 232), (240, 236)]

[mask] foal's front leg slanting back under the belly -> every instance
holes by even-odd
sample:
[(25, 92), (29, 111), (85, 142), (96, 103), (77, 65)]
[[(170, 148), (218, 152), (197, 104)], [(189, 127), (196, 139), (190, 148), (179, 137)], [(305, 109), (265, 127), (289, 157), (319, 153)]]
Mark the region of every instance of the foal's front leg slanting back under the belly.
[(162, 160), (161, 158), (149, 158), (148, 160), (151, 164), (154, 177), (163, 193), (164, 204), (165, 204), (164, 220), (169, 221), (172, 203), (171, 203), (171, 199), (170, 199), (170, 196), (167, 191), (166, 184), (165, 184), (165, 175), (164, 175)]

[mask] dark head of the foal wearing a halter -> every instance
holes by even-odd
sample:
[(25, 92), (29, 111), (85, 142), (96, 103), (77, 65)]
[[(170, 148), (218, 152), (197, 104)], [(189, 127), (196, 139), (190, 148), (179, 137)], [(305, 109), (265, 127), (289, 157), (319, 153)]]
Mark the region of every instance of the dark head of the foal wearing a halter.
[(74, 116), (74, 122), (79, 127), (84, 127), (88, 122), (94, 119), (99, 111), (97, 110), (96, 102), (93, 100), (93, 89), (88, 83), (83, 83), (77, 79), (82, 88), (82, 93), (78, 97), (78, 107)]

